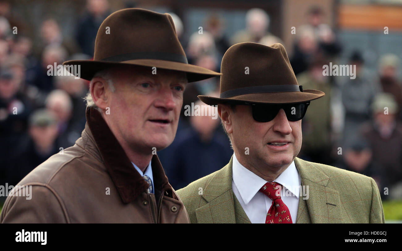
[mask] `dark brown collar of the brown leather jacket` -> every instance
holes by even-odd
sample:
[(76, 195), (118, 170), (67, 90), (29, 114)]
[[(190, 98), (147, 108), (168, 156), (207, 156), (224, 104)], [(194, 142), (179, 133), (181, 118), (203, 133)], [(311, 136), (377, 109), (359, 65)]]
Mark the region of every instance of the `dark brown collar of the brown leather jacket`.
[[(85, 131), (95, 144), (92, 148), (94, 156), (105, 164), (123, 202), (130, 203), (139, 194), (146, 192), (148, 182), (134, 168), (100, 112), (93, 107), (86, 109)], [(172, 187), (157, 155), (152, 157), (152, 173), (156, 198), (161, 194), (174, 198)]]

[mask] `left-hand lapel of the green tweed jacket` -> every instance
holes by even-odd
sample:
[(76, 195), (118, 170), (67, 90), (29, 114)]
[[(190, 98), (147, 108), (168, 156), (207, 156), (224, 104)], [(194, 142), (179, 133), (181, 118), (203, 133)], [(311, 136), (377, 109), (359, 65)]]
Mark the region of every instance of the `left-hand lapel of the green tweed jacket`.
[(195, 211), (198, 223), (251, 223), (232, 190), (232, 163), (207, 180), (202, 197), (208, 202)]

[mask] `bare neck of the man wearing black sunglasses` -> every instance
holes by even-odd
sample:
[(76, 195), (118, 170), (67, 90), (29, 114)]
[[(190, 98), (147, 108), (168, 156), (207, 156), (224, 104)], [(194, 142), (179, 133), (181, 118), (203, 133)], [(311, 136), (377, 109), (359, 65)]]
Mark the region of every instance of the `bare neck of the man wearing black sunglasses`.
[(258, 175), (260, 178), (263, 178), (264, 180), (268, 182), (274, 181), (276, 178), (283, 173), (283, 171), (286, 170), (287, 167), (289, 167), (289, 164), (282, 165), (280, 167), (273, 167), (270, 165), (267, 165), (267, 163), (263, 161), (258, 161), (255, 159), (252, 159), (250, 155), (241, 155), (240, 153), (236, 153), (236, 159), (239, 161), (239, 163), (247, 168), (248, 170), (252, 171), (256, 175)]

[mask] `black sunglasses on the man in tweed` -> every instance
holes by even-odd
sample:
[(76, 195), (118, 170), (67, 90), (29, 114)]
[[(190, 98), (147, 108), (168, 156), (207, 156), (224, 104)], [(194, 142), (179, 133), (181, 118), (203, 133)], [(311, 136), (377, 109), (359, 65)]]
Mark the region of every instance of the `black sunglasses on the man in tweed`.
[(310, 102), (297, 104), (250, 104), (252, 107), (252, 117), (258, 122), (269, 122), (273, 120), (279, 110), (285, 111), (287, 120), (301, 120), (306, 114)]

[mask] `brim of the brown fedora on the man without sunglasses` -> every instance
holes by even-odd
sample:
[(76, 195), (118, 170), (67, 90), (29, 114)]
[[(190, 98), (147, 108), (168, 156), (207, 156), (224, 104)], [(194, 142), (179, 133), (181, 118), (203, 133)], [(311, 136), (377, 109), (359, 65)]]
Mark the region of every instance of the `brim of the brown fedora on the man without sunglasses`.
[(95, 61), (95, 60), (69, 60), (65, 61), (63, 65), (80, 65), (80, 78), (83, 78), (85, 80), (91, 80), (94, 74), (100, 70), (118, 65), (138, 65), (138, 66), (168, 69), (173, 71), (182, 71), (186, 73), (187, 81), (189, 83), (221, 75), (221, 73), (211, 71), (209, 69), (197, 65), (190, 65), (187, 63), (158, 60), (158, 59), (134, 59), (121, 62)]

